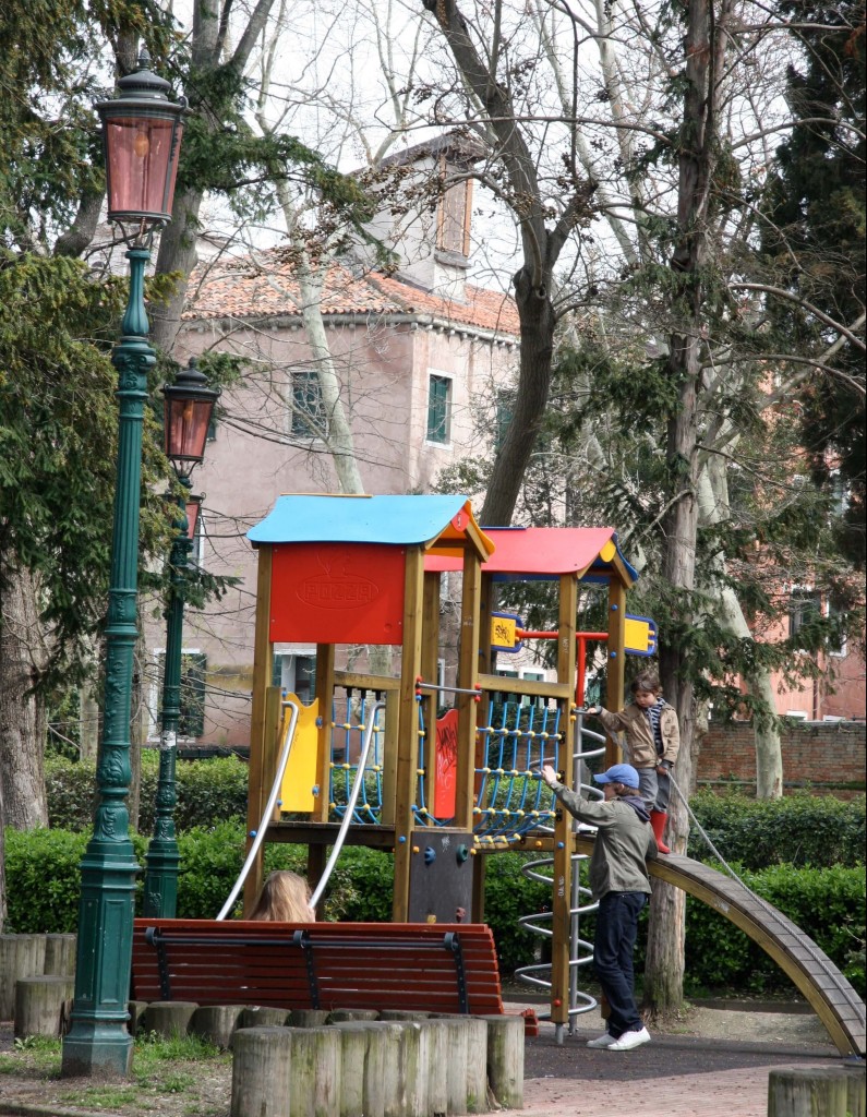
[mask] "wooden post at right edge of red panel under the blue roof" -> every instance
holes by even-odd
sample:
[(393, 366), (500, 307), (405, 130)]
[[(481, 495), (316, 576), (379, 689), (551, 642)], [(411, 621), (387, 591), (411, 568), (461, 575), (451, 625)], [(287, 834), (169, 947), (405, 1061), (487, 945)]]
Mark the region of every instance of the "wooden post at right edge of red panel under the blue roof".
[(412, 804), (419, 764), (416, 680), (421, 674), (422, 581), (420, 547), (407, 547), (403, 579), (403, 656), (400, 667), (400, 729), (394, 810), (394, 898), (392, 918), (409, 916), (409, 875), (412, 858)]

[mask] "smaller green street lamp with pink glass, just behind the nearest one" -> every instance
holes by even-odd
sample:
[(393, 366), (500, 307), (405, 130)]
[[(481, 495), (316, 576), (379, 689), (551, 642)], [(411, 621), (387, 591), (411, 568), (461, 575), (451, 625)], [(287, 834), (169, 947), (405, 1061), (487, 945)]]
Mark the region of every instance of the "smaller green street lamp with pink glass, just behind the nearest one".
[(144, 915), (173, 919), (178, 904), (178, 865), (180, 855), (174, 833), (174, 765), (178, 756), (178, 728), (181, 719), (181, 658), (183, 605), (187, 593), (187, 558), (196, 537), (196, 519), (201, 497), (189, 495), (190, 475), (204, 457), (204, 443), (213, 404), (220, 393), (196, 366), (196, 359), (175, 380), (165, 384), (165, 455), (175, 476), (188, 490), (177, 505), (175, 536), (169, 557), (171, 583), (165, 610), (165, 657), (163, 661), (162, 720), (160, 726), (160, 779), (156, 785), (156, 812), (153, 838), (145, 856)]

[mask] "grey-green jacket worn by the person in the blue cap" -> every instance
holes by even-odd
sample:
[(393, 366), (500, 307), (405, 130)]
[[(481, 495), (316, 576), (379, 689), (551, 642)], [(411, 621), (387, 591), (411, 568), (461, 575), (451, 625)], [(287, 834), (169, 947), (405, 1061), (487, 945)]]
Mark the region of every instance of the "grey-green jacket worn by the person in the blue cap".
[(609, 802), (582, 799), (555, 783), (553, 792), (579, 822), (597, 827), (590, 858), (590, 891), (594, 900), (608, 892), (650, 892), (648, 858), (656, 859), (656, 839), (649, 815), (636, 792), (630, 799)]

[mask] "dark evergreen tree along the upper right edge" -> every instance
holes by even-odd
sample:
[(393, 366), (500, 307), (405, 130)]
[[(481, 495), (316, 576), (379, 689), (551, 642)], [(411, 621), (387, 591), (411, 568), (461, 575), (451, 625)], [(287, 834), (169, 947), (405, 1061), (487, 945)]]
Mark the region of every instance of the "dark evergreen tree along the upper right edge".
[[(782, 8), (803, 54), (789, 68), (787, 97), (795, 125), (778, 149), (765, 251), (782, 271), (781, 286), (798, 297), (777, 304), (778, 328), (797, 351), (826, 365), (811, 370), (800, 392), (801, 441), (821, 484), (833, 485), (839, 476), (840, 543), (863, 569), (865, 9), (860, 2), (803, 0)], [(855, 335), (844, 337), (826, 360), (822, 353), (836, 335), (822, 315)]]

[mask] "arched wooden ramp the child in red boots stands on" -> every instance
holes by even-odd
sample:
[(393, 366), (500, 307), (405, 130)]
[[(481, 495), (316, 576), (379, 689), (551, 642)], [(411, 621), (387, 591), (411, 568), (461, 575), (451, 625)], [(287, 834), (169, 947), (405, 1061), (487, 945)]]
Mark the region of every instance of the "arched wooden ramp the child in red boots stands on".
[[(593, 837), (575, 834), (575, 852), (591, 853)], [(809, 1001), (844, 1056), (865, 1053), (865, 1005), (816, 943), (773, 905), (701, 861), (670, 853), (651, 861), (650, 876), (683, 888), (731, 919), (774, 960)]]

